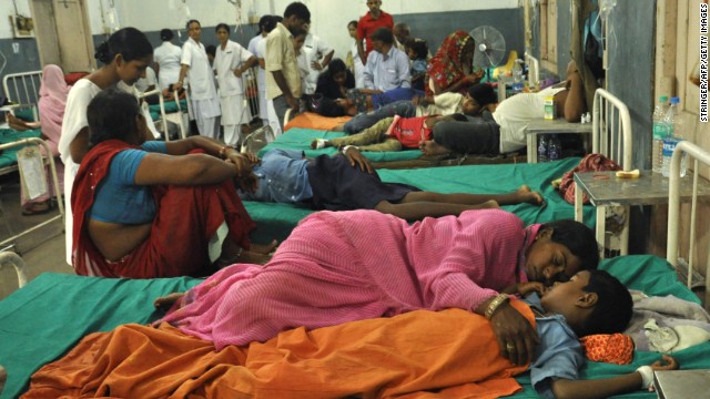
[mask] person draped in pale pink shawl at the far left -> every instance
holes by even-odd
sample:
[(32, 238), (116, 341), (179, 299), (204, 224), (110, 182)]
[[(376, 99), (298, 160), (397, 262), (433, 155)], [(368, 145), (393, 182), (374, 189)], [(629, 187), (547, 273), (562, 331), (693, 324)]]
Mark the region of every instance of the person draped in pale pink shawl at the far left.
[[(19, 117), (8, 114), (8, 124), (14, 130), (42, 130), (40, 139), (44, 140), (52, 152), (52, 156), (54, 156), (54, 165), (57, 167), (57, 176), (59, 177), (61, 194), (63, 194), (64, 164), (59, 157), (58, 145), (59, 137), (62, 133), (62, 119), (64, 117), (64, 108), (67, 106), (68, 94), (69, 86), (64, 81), (64, 72), (62, 72), (62, 69), (58, 65), (48, 64), (42, 70), (40, 99), (37, 104), (40, 122), (26, 122)], [(44, 151), (43, 147), (42, 151)], [(51, 182), (51, 178), (48, 178), (47, 181)], [(23, 186), (21, 186), (20, 204), (22, 206), (23, 215), (43, 214), (50, 211), (50, 193), (33, 200), (28, 200), (26, 197)]]

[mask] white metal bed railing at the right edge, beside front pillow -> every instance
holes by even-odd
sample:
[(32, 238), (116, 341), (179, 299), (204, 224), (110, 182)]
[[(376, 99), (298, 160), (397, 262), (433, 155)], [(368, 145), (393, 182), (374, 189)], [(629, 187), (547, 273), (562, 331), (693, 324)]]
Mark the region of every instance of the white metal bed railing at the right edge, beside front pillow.
[[(696, 253), (696, 219), (698, 212), (698, 187), (701, 183), (701, 180), (704, 181), (703, 177), (700, 176), (699, 164), (703, 164), (706, 166), (710, 166), (710, 153), (702, 150), (698, 145), (682, 141), (673, 151), (673, 156), (671, 157), (670, 164), (670, 176), (668, 183), (668, 250), (666, 253), (666, 259), (668, 263), (673, 265), (676, 269), (684, 263), (680, 257), (679, 250), (679, 241), (680, 241), (680, 163), (683, 154), (688, 157), (686, 162), (689, 163), (690, 158), (692, 158), (692, 197), (690, 203), (690, 226), (689, 226), (689, 249), (688, 249), (688, 270), (687, 270), (687, 284), (689, 288), (692, 288), (693, 285), (693, 275), (694, 273), (694, 253)], [(689, 165), (690, 166), (690, 165)], [(688, 177), (686, 177), (688, 178)], [(707, 184), (707, 181), (703, 183)], [(702, 232), (707, 232), (708, 226), (701, 226)], [(708, 306), (710, 304), (710, 249), (708, 253), (708, 258), (706, 260), (708, 264), (706, 265), (706, 276), (704, 276), (704, 287), (706, 287), (706, 298), (704, 304)]]

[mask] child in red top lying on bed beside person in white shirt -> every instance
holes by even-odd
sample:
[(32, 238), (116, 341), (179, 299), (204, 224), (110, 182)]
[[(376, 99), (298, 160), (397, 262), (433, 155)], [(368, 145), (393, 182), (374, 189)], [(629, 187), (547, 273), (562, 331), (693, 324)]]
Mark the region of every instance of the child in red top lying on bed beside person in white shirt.
[(444, 121), (466, 122), (468, 120), (466, 115), (460, 113), (417, 117), (394, 115), (353, 135), (331, 140), (316, 139), (311, 143), (311, 149), (342, 147), (344, 145), (357, 145), (359, 151), (418, 149), (422, 141), (432, 140), (434, 125)]

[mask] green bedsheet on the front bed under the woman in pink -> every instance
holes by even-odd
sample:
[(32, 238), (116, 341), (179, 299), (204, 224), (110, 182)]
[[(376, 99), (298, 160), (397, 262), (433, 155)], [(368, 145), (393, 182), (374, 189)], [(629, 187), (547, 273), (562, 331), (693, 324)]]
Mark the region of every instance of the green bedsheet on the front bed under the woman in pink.
[[(58, 259), (59, 262), (59, 259)], [(673, 294), (698, 303), (697, 297), (676, 279), (665, 259), (656, 256), (623, 256), (602, 262), (629, 287), (648, 295)], [(81, 337), (106, 331), (120, 324), (145, 324), (156, 318), (155, 297), (184, 290), (196, 278), (150, 280), (109, 279), (45, 273), (0, 301), (0, 365), (8, 372), (2, 398), (14, 398), (27, 389), (32, 372), (70, 349)], [(674, 354), (682, 368), (710, 368), (710, 342)], [(630, 372), (659, 358), (658, 354), (637, 352), (632, 365), (590, 362), (586, 378)], [(518, 378), (525, 390), (518, 398), (536, 398), (529, 378)], [(656, 398), (638, 391), (625, 398)]]

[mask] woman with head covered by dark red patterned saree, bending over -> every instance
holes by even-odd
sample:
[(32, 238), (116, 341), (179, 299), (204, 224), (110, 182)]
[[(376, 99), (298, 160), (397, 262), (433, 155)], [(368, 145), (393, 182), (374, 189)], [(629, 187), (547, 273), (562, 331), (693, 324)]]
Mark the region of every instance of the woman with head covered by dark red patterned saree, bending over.
[(446, 37), (426, 68), (429, 76), (425, 85), (427, 95), (447, 92), (466, 95), (484, 75), (483, 71), (474, 72), (475, 49), (474, 38), (463, 30)]

